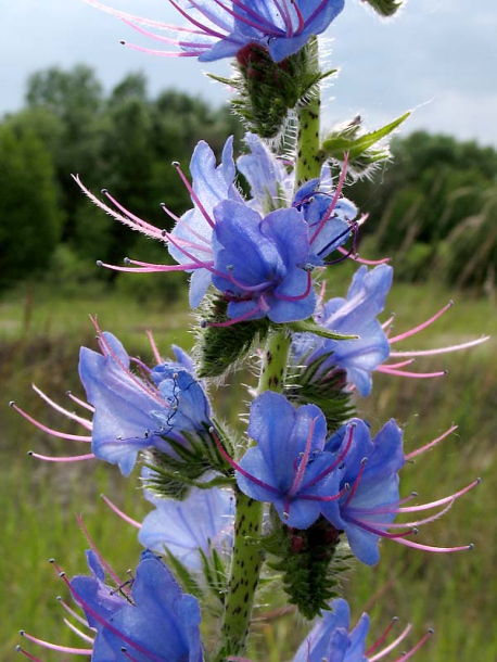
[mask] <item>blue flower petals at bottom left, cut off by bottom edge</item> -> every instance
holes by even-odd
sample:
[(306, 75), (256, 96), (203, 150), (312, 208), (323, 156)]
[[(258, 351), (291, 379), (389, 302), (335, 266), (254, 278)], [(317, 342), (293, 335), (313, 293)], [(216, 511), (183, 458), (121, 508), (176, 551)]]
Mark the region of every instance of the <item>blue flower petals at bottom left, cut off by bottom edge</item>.
[(151, 551), (141, 555), (131, 588), (112, 588), (93, 551), (87, 552), (92, 576), (68, 584), (97, 634), (93, 662), (202, 662), (201, 613), (196, 598), (181, 591), (170, 571)]

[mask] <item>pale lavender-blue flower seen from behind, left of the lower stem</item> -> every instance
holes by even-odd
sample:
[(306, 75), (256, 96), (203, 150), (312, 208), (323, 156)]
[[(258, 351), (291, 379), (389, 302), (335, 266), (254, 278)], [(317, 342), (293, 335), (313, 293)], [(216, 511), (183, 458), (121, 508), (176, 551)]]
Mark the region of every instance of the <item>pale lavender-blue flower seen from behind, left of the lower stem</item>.
[(166, 547), (190, 570), (202, 568), (201, 551), (228, 551), (232, 544), (234, 502), (229, 489), (192, 487), (182, 501), (158, 498), (149, 489), (145, 497), (155, 506), (143, 520), (138, 539), (158, 553)]

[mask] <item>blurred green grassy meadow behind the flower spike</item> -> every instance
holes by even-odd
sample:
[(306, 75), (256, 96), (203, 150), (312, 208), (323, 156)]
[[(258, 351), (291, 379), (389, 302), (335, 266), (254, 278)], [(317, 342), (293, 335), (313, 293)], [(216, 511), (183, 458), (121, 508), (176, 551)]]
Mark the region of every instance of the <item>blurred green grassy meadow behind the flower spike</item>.
[[(330, 295), (344, 294), (344, 278), (330, 283)], [(459, 425), (436, 448), (406, 466), (402, 489), (404, 495), (416, 489), (420, 502), (430, 501), (457, 492), (480, 475), (481, 485), (418, 536), (420, 543), (437, 546), (474, 543), (475, 549), (435, 555), (384, 540), (379, 565), (372, 570), (355, 565), (344, 576), (343, 586), (355, 619), (365, 609), (371, 613), (371, 641), (396, 615), (398, 633), (407, 622), (413, 623), (411, 645), (428, 627), (435, 627), (434, 637), (417, 660), (493, 662), (497, 659), (497, 305), (469, 293), (448, 292), (435, 282), (422, 287), (403, 283), (388, 296), (384, 319), (395, 311), (395, 333), (400, 333), (450, 298), (456, 305), (433, 327), (405, 341), (402, 348), (438, 347), (482, 334), (493, 333), (494, 338), (473, 349), (417, 361), (415, 369), (419, 371), (447, 369), (443, 378), (375, 374), (372, 395), (358, 400), (357, 406), (374, 431), (395, 417), (405, 428), (409, 450), (438, 436), (451, 423)], [(78, 449), (48, 437), (8, 407), (9, 400), (15, 400), (46, 425), (75, 431), (47, 407), (30, 384), (74, 408), (66, 392), (84, 395), (77, 375), (78, 349), (81, 345), (95, 347), (89, 314), (97, 314), (103, 329), (118, 335), (129, 354), (145, 361), (151, 358), (148, 329), (154, 331), (164, 355), (170, 343), (184, 348), (192, 343), (188, 327), (194, 320), (180, 304), (143, 306), (123, 294), (109, 297), (91, 292), (64, 296), (36, 285), (0, 301), (1, 660), (14, 659), (20, 628), (59, 644), (80, 646), (64, 626), (64, 610), (55, 599), (67, 597), (65, 586), (47, 562), (55, 558), (69, 576), (86, 572), (87, 543), (76, 514), (82, 514), (90, 535), (118, 573), (135, 566), (140, 551), (136, 529), (113, 514), (100, 496), (107, 495), (139, 520), (148, 506), (139, 494), (138, 472), (125, 480), (116, 468), (94, 461), (53, 464), (28, 457), (30, 449), (48, 455), (69, 455)], [(224, 390), (219, 395), (222, 416), (232, 423), (244, 399), (242, 382), (247, 379), (245, 373), (235, 374), (234, 391)], [(235, 403), (234, 413), (231, 402)], [(248, 657), (283, 662), (291, 658), (290, 645), (300, 640), (305, 624), (295, 627), (272, 601), (270, 591), (263, 595), (263, 601)], [(52, 651), (36, 652), (46, 662), (67, 659)]]

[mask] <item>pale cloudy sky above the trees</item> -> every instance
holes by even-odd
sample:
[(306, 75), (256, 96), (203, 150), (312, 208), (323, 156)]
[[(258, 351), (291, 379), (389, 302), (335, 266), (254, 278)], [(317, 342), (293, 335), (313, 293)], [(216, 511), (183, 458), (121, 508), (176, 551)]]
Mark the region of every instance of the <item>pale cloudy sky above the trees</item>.
[[(106, 2), (182, 24), (168, 0)], [(327, 33), (329, 63), (341, 74), (326, 90), (326, 126), (360, 113), (378, 128), (416, 109), (404, 131), (425, 128), (497, 147), (497, 0), (409, 0), (387, 21), (360, 0), (345, 5)], [(122, 47), (119, 39), (144, 41), (81, 0), (0, 0), (0, 114), (22, 106), (30, 73), (76, 63), (92, 66), (106, 89), (141, 69), (151, 94), (176, 87), (218, 104), (227, 99), (222, 86), (202, 74), (226, 74), (227, 64), (199, 65)]]

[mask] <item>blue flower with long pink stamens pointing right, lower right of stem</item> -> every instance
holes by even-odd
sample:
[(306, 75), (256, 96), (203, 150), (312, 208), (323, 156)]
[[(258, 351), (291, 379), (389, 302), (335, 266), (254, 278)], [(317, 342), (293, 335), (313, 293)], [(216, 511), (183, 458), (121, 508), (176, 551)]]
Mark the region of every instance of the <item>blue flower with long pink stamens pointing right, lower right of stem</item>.
[[(334, 500), (322, 500), (321, 513), (335, 529), (345, 532), (351, 549), (359, 561), (367, 565), (378, 563), (380, 538), (433, 552), (472, 549), (472, 545), (434, 547), (415, 543), (407, 537), (416, 535), (420, 525), (447, 512), (456, 499), (480, 483), (480, 479), (476, 479), (459, 492), (436, 501), (405, 506), (418, 495), (412, 493), (400, 499), (399, 470), (406, 460), (430, 448), (445, 436), (446, 434), (406, 456), (403, 449), (403, 431), (393, 419), (383, 425), (374, 438), (371, 438), (369, 425), (365, 421), (352, 419), (329, 438), (324, 450), (343, 459), (343, 464), (339, 483), (340, 496)], [(398, 515), (435, 508), (439, 510), (426, 518), (395, 522)]]

